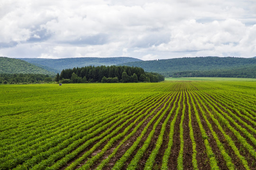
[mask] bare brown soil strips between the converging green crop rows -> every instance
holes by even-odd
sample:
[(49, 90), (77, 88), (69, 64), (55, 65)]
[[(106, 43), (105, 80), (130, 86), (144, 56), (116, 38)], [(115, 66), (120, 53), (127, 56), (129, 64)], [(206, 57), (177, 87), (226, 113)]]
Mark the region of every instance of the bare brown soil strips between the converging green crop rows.
[[(179, 85), (177, 85), (179, 86)], [(180, 88), (180, 87), (179, 87)], [(202, 91), (202, 89), (199, 89), (197, 87), (195, 87), (194, 90), (198, 90), (198, 91)], [(175, 91), (178, 91), (178, 89), (175, 89)], [(170, 97), (170, 96), (169, 96)], [(166, 97), (164, 99), (165, 102), (168, 101), (169, 97)], [(173, 96), (174, 98), (178, 97), (182, 97), (182, 100), (183, 100), (183, 96), (180, 95), (180, 96)], [(206, 97), (209, 97), (210, 99), (212, 99), (214, 102), (215, 102), (215, 99), (212, 98), (212, 96), (210, 96), (209, 94), (206, 94)], [(201, 98), (201, 97), (200, 97)], [(160, 99), (159, 99), (160, 100)], [(158, 101), (159, 101), (158, 100)], [(181, 108), (179, 110), (179, 113), (178, 113), (178, 117), (176, 119), (176, 122), (174, 124), (174, 136), (173, 136), (173, 145), (172, 145), (172, 148), (171, 148), (171, 155), (169, 157), (169, 161), (168, 161), (168, 169), (169, 170), (176, 170), (177, 169), (177, 158), (178, 158), (178, 155), (179, 155), (179, 151), (180, 151), (180, 121), (181, 121), (181, 116), (182, 116), (182, 100), (181, 100)], [(185, 104), (186, 104), (186, 100), (185, 99)], [(193, 107), (192, 107), (192, 102), (191, 102), (191, 99), (189, 97), (189, 102), (191, 104), (191, 110), (192, 110), (192, 128), (193, 128), (193, 135), (194, 135), (194, 139), (195, 139), (195, 142), (196, 142), (196, 151), (197, 151), (197, 155), (196, 155), (196, 160), (197, 160), (197, 164), (198, 164), (198, 168), (199, 170), (210, 170), (210, 161), (209, 161), (209, 158), (208, 158), (208, 155), (207, 155), (207, 152), (206, 152), (206, 148), (205, 148), (205, 144), (204, 144), (204, 140), (202, 139), (202, 136), (201, 136), (201, 131), (200, 131), (200, 128), (198, 126), (198, 123), (197, 123), (197, 119), (195, 117), (195, 112), (193, 110)], [(193, 100), (195, 101), (195, 99), (193, 98)], [(206, 99), (208, 100), (208, 99)], [(118, 161), (122, 156), (123, 154), (134, 144), (134, 142), (137, 140), (137, 137), (141, 135), (141, 132), (143, 131), (144, 127), (146, 127), (146, 125), (148, 124), (148, 122), (155, 116), (155, 114), (161, 110), (163, 107), (164, 107), (164, 104), (161, 104), (161, 106), (159, 108), (157, 108), (157, 110), (155, 110), (155, 112), (153, 113), (153, 115), (151, 115), (149, 118), (147, 118), (145, 120), (145, 122), (141, 125), (141, 127), (139, 127), (137, 129), (137, 132), (131, 136), (124, 144), (121, 145), (121, 147), (119, 148), (118, 152), (116, 153), (116, 155), (110, 159), (109, 163), (103, 168), (104, 170), (111, 170), (112, 167), (115, 165), (116, 161)], [(217, 101), (218, 102), (218, 101)], [(161, 119), (160, 123), (157, 125), (156, 129), (155, 129), (155, 133), (154, 133), (154, 136), (152, 137), (151, 141), (150, 141), (150, 144), (146, 150), (146, 152), (144, 153), (143, 157), (141, 158), (141, 160), (138, 162), (138, 166), (137, 166), (137, 169), (138, 170), (142, 170), (144, 169), (144, 166), (145, 166), (145, 163), (149, 157), (149, 155), (151, 154), (151, 152), (155, 149), (155, 144), (157, 142), (157, 139), (158, 139), (158, 136), (161, 132), (161, 128), (162, 128), (162, 124), (164, 123), (166, 117), (168, 114), (170, 114), (170, 110), (171, 108), (173, 107), (173, 103), (174, 101), (171, 103), (171, 106), (170, 108), (168, 108), (168, 111), (166, 112), (166, 114), (164, 115), (163, 119)], [(169, 103), (166, 104), (166, 107), (168, 106)], [(224, 106), (223, 104), (221, 104), (222, 106)], [(164, 153), (165, 153), (165, 150), (167, 148), (167, 144), (169, 142), (169, 133), (170, 133), (170, 124), (171, 124), (171, 121), (174, 119), (174, 115), (175, 115), (175, 111), (177, 109), (177, 106), (178, 106), (178, 101), (175, 105), (175, 109), (174, 109), (174, 112), (172, 113), (170, 119), (168, 120), (167, 122), (167, 125), (165, 127), (165, 134), (164, 134), (164, 137), (163, 137), (163, 143), (158, 151), (158, 154), (156, 155), (156, 158), (155, 158), (155, 163), (154, 163), (154, 166), (153, 166), (153, 170), (160, 170), (161, 169), (161, 166), (162, 166), (162, 159), (163, 159), (163, 156), (164, 156)], [(207, 106), (207, 104), (206, 104)], [(207, 106), (208, 107), (208, 106)], [(220, 108), (219, 106), (217, 106), (218, 108)], [(225, 106), (224, 106), (225, 107)], [(238, 169), (238, 170), (244, 170), (244, 166), (243, 164), (241, 163), (241, 161), (238, 159), (237, 155), (234, 153), (234, 151), (232, 150), (232, 148), (229, 146), (228, 142), (226, 141), (224, 135), (220, 132), (219, 128), (215, 125), (214, 121), (210, 118), (210, 115), (207, 113), (207, 111), (204, 109), (204, 107), (201, 105), (201, 108), (205, 111), (206, 113), (206, 117), (208, 119), (208, 121), (210, 122), (212, 128), (213, 128), (213, 131), (217, 134), (218, 138), (219, 138), (219, 141), (223, 144), (226, 152), (229, 154), (230, 158), (232, 159), (232, 162), (234, 163), (235, 165), (235, 169)], [(153, 108), (154, 109), (154, 108)], [(152, 109), (152, 110), (153, 110)], [(166, 108), (165, 108), (166, 109)], [(198, 110), (199, 112), (199, 117), (200, 117), (200, 120), (201, 120), (201, 124), (207, 134), (207, 136), (209, 137), (208, 138), (208, 141), (209, 141), (209, 144), (210, 144), (210, 147), (213, 151), (213, 153), (215, 154), (215, 158), (218, 162), (218, 166), (219, 166), (219, 169), (221, 170), (227, 170), (228, 167), (226, 165), (226, 161), (224, 160), (223, 156), (221, 155), (220, 151), (219, 151), (219, 147), (217, 146), (216, 144), (216, 141), (215, 139), (213, 138), (213, 135), (209, 129), (209, 127), (207, 126), (207, 123), (206, 121), (204, 120), (203, 116), (202, 116), (202, 113), (200, 111), (200, 109), (198, 108), (197, 104), (196, 104), (196, 109)], [(208, 108), (209, 109), (209, 108)], [(217, 111), (218, 109), (215, 108)], [(222, 111), (224, 111), (225, 113), (227, 113), (229, 115), (229, 113), (227, 111), (225, 111), (224, 109), (220, 108)], [(140, 109), (142, 110), (142, 108)], [(140, 111), (140, 110), (137, 110), (136, 112)], [(150, 114), (152, 112), (152, 110), (149, 111), (148, 114)], [(210, 110), (210, 109), (209, 109)], [(239, 115), (234, 111), (234, 110), (231, 110), (234, 114), (236, 114), (238, 117)], [(229, 135), (232, 140), (234, 141), (235, 145), (237, 146), (238, 149), (240, 149), (240, 154), (243, 155), (245, 157), (245, 159), (247, 160), (248, 162), (248, 165), (250, 166), (251, 169), (255, 168), (253, 165), (253, 162), (255, 162), (255, 159), (250, 155), (250, 153), (241, 146), (241, 144), (239, 143), (237, 137), (229, 130), (229, 128), (227, 128), (227, 126), (224, 124), (224, 123), (221, 123), (219, 117), (217, 115), (215, 115), (215, 113), (210, 110), (210, 112), (214, 115), (214, 117), (219, 121), (221, 127), (223, 128), (223, 130), (226, 132), (227, 135)], [(145, 113), (145, 112), (144, 112)], [(153, 126), (155, 124), (155, 122), (157, 121), (157, 119), (160, 117), (162, 113), (160, 113), (157, 118), (153, 121), (153, 123), (148, 127), (147, 131), (146, 131), (146, 134), (142, 137), (140, 143), (138, 144), (137, 148), (135, 149), (135, 151), (130, 155), (130, 157), (128, 158), (128, 160), (125, 162), (125, 165), (122, 167), (122, 169), (126, 169), (128, 167), (128, 164), (131, 162), (131, 160), (134, 158), (134, 156), (137, 154), (137, 151), (139, 150), (139, 148), (141, 148), (144, 144), (144, 142), (146, 141), (146, 138), (148, 137), (149, 133), (152, 131), (153, 129)], [(232, 117), (230, 115), (230, 117)], [(101, 163), (101, 161), (103, 161), (104, 159), (108, 158), (108, 156), (114, 151), (114, 149), (120, 144), (120, 142), (128, 135), (132, 132), (132, 130), (138, 125), (138, 123), (144, 119), (145, 116), (143, 118), (141, 118), (140, 120), (137, 121), (137, 123), (135, 125), (133, 125), (133, 127), (131, 127), (129, 130), (128, 130), (128, 133), (121, 137), (118, 141), (114, 142), (112, 144), (112, 146), (101, 156), (101, 158), (99, 160), (97, 160), (96, 162), (94, 162), (93, 166), (91, 167), (91, 169), (96, 169), (97, 166)], [(232, 117), (233, 118), (233, 117)], [(117, 134), (115, 134), (114, 136), (118, 135), (119, 133), (122, 133), (123, 130), (128, 127), (136, 118), (132, 119), (131, 121), (128, 122), (128, 124), (124, 127), (122, 127), (119, 132)], [(226, 117), (225, 117), (226, 119)], [(247, 121), (246, 119), (243, 119), (241, 118), (243, 121), (245, 121), (248, 125), (252, 126), (253, 125)], [(241, 124), (240, 122), (238, 122), (236, 120), (236, 122), (238, 123), (238, 125), (240, 125), (241, 127), (244, 127), (245, 129), (247, 129), (247, 127), (245, 127), (243, 124)], [(241, 131), (239, 131), (237, 129), (237, 127), (235, 127), (234, 124), (232, 124), (230, 121), (229, 121), (230, 125), (232, 127), (234, 127), (238, 132), (240, 132), (241, 136), (243, 136), (248, 144), (252, 145), (254, 147), (254, 144), (243, 134), (241, 133)], [(115, 130), (117, 127), (115, 127), (113, 130)], [(191, 138), (190, 138), (190, 131), (189, 131), (189, 115), (188, 115), (188, 107), (187, 107), (187, 104), (186, 104), (186, 109), (185, 109), (185, 115), (184, 115), (184, 121), (183, 121), (183, 140), (184, 140), (184, 148), (183, 148), (183, 169), (184, 170), (192, 170), (193, 169), (193, 165), (192, 165), (192, 141), (191, 141)], [(249, 130), (248, 130), (249, 131)], [(111, 131), (112, 132), (112, 131)], [(111, 133), (110, 132), (110, 133)], [(250, 131), (249, 131), (250, 132)], [(100, 132), (99, 134), (97, 134), (96, 136), (100, 135), (102, 132)], [(255, 137), (255, 135), (254, 135)], [(101, 140), (101, 139), (99, 139)], [(94, 144), (97, 144), (99, 142), (99, 140), (95, 141), (93, 144), (91, 144), (90, 146), (88, 146), (84, 151), (82, 151), (81, 153), (79, 153), (73, 160), (69, 161), (69, 163), (62, 167), (61, 170), (64, 170), (68, 165), (70, 165), (73, 161), (75, 161), (77, 158), (79, 158), (80, 156), (82, 156), (82, 154), (86, 153), (88, 150), (91, 149), (91, 147), (94, 145)], [(88, 156), (87, 159), (90, 159), (92, 156), (95, 156), (97, 155), (98, 153), (101, 152), (101, 150), (104, 148), (105, 144), (107, 144), (109, 140), (107, 141), (104, 141), (101, 146), (99, 146), (93, 153), (91, 153), (91, 155)], [(255, 148), (255, 147), (254, 147)], [(86, 160), (87, 160), (86, 159)], [(79, 166), (77, 166), (76, 168), (79, 168), (81, 167), (83, 164), (86, 163), (86, 160), (84, 162), (82, 162)]]

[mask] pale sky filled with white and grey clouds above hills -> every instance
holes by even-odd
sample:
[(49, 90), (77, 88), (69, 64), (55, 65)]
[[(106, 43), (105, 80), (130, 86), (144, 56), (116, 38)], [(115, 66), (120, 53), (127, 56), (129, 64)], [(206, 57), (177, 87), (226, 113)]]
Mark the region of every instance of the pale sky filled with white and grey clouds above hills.
[(0, 0), (0, 56), (256, 56), (255, 0)]

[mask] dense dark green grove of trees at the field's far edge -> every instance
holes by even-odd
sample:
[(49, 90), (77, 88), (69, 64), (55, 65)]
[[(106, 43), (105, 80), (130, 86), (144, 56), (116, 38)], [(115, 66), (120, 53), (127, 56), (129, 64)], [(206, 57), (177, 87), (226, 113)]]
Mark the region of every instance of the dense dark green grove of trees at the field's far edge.
[(129, 66), (87, 66), (68, 68), (57, 74), (55, 81), (60, 83), (128, 83), (159, 82), (165, 77), (158, 73), (147, 73), (143, 68)]

